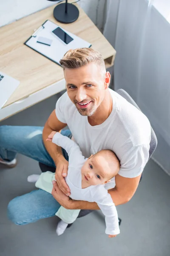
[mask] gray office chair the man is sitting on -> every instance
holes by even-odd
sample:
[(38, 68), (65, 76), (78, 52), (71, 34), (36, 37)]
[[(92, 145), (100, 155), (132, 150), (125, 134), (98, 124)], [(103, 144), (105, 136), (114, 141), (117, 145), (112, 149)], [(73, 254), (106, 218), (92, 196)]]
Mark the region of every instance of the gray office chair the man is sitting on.
[[(125, 90), (119, 89), (116, 92), (119, 93), (123, 98), (125, 98), (128, 102), (130, 102), (133, 106), (135, 106), (136, 108), (138, 108), (140, 110), (140, 108), (138, 107), (136, 102), (134, 102), (134, 100), (130, 97), (130, 95)], [(158, 142), (157, 142), (156, 134), (153, 131), (153, 128), (151, 127), (151, 140), (150, 140), (149, 159), (152, 156), (153, 152), (155, 151), (157, 143)], [(40, 162), (39, 162), (39, 166), (40, 166), (40, 169), (41, 169), (42, 172), (46, 172), (46, 171), (55, 172), (55, 168), (54, 167), (46, 166), (45, 164), (40, 163)], [(142, 176), (141, 176), (139, 182), (141, 182), (141, 180), (142, 180)], [(79, 212), (78, 218), (81, 218), (81, 217), (83, 217), (85, 215), (88, 215), (92, 211), (93, 210), (81, 210)], [(119, 225), (120, 225), (120, 223), (121, 223), (121, 219), (119, 218)]]

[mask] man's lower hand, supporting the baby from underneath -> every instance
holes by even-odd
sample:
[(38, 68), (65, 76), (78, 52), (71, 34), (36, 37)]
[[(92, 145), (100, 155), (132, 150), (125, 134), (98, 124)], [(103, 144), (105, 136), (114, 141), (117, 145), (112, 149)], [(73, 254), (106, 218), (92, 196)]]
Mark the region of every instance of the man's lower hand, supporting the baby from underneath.
[(57, 185), (57, 182), (55, 180), (53, 180), (52, 183), (53, 189), (51, 194), (57, 200), (57, 202), (61, 204), (61, 206), (63, 206), (65, 209), (73, 209), (71, 198), (69, 198), (59, 189), (59, 186)]

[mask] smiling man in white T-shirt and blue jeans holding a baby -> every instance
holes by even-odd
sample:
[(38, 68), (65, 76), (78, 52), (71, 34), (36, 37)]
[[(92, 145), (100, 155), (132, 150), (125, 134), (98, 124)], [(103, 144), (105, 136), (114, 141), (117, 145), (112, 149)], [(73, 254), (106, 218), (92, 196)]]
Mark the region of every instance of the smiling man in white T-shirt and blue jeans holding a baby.
[(8, 216), (15, 224), (53, 216), (60, 205), (67, 209), (99, 209), (96, 203), (69, 199), (70, 190), (64, 179), (68, 156), (46, 141), (51, 131), (68, 125), (70, 131), (61, 133), (70, 138), (73, 135), (85, 157), (102, 149), (116, 153), (121, 168), (115, 181), (107, 186), (115, 205), (125, 204), (133, 197), (149, 157), (150, 123), (142, 112), (108, 88), (111, 76), (101, 54), (91, 48), (69, 50), (60, 64), (67, 92), (57, 101), (45, 127), (0, 127), (1, 163), (14, 164), (19, 152), (57, 167), (53, 197), (34, 190), (9, 203)]

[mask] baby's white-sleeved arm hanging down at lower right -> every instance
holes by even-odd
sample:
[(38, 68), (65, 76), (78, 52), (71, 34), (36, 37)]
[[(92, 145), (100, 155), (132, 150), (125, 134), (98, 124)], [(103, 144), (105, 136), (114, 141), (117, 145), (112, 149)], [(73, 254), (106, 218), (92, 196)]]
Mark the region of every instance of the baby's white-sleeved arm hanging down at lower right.
[[(108, 193), (107, 189), (100, 187), (97, 189), (98, 195), (96, 195), (99, 208), (105, 215), (106, 230), (105, 233), (108, 235), (118, 235), (119, 230), (119, 219), (117, 215), (117, 210), (111, 195)], [(96, 193), (95, 193), (96, 194)]]

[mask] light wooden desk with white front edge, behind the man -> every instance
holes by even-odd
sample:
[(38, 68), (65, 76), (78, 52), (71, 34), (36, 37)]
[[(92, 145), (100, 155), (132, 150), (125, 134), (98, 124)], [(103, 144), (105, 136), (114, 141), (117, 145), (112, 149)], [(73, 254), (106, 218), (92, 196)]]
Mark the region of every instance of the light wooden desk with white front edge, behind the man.
[(62, 67), (23, 44), (45, 20), (51, 20), (91, 43), (92, 48), (101, 52), (106, 68), (113, 65), (115, 49), (85, 12), (77, 7), (79, 18), (74, 23), (57, 22), (53, 17), (54, 6), (51, 6), (0, 28), (0, 35), (3, 35), (0, 40), (0, 71), (20, 81), (19, 87), (0, 110), (0, 120), (65, 89)]

